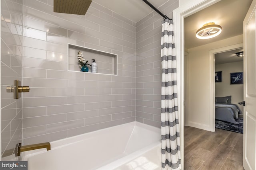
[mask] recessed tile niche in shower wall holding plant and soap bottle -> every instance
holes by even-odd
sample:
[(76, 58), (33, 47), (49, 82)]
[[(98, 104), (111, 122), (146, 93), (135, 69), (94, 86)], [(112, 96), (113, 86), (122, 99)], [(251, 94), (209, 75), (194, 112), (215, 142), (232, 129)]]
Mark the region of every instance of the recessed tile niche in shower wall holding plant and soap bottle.
[[(81, 51), (85, 61), (88, 64), (92, 64), (92, 59), (95, 59), (97, 63), (97, 73), (94, 74), (112, 74), (117, 75), (117, 55), (112, 53), (107, 53), (104, 51), (98, 51), (95, 49), (90, 49), (78, 45), (68, 44), (68, 70), (69, 71), (79, 71), (80, 67), (78, 63), (77, 53)], [(89, 71), (91, 73), (91, 66), (88, 65)], [(86, 72), (87, 73), (87, 72)]]

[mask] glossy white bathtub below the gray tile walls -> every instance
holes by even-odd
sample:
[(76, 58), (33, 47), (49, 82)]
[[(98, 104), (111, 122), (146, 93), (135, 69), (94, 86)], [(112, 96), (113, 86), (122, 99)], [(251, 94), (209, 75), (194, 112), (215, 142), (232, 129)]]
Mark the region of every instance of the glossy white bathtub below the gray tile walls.
[(22, 153), (28, 170), (161, 170), (160, 128), (131, 122)]

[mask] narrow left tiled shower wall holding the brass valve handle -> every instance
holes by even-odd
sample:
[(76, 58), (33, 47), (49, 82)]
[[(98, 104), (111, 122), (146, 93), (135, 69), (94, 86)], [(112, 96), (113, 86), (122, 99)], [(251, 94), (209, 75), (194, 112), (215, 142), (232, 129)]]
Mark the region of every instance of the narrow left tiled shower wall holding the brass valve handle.
[(6, 90), (22, 79), (22, 2), (1, 1), (1, 138), (2, 156), (22, 142), (22, 98)]

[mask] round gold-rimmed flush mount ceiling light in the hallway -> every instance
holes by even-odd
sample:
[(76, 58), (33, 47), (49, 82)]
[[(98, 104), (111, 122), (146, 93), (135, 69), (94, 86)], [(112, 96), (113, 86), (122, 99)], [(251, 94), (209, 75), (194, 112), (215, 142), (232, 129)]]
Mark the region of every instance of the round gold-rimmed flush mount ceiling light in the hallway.
[(221, 31), (222, 27), (220, 25), (216, 25), (214, 22), (209, 22), (196, 31), (196, 37), (199, 39), (209, 39), (216, 37)]

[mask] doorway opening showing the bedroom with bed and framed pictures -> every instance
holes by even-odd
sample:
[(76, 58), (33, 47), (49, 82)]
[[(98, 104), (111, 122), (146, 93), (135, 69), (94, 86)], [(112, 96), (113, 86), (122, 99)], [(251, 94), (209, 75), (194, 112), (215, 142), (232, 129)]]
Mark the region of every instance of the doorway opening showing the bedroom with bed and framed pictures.
[(214, 54), (215, 128), (243, 133), (243, 48)]

